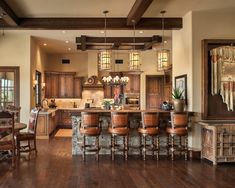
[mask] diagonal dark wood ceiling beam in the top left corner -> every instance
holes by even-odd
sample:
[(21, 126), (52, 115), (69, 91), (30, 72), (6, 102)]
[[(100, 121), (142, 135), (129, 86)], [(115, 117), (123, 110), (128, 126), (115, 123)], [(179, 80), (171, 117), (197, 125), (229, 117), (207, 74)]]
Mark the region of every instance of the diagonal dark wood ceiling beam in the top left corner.
[(5, 0), (0, 1), (0, 16), (8, 26), (17, 26), (20, 22), (15, 12), (9, 7)]

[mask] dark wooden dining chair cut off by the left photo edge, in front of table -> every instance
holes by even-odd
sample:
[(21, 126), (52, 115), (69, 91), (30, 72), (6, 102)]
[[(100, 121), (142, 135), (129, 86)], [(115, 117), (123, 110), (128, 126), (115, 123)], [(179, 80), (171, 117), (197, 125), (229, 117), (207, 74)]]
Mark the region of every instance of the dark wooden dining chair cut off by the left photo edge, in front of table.
[(12, 167), (15, 167), (15, 131), (14, 113), (7, 111), (0, 112), (0, 151), (12, 152)]

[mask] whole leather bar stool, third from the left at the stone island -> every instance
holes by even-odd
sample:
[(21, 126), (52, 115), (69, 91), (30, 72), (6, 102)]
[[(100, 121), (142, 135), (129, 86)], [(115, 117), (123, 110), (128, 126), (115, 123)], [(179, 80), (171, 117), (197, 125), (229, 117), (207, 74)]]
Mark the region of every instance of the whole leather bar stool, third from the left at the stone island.
[[(143, 160), (146, 159), (146, 151), (157, 151), (157, 160), (159, 158), (159, 115), (155, 112), (142, 112), (142, 127), (138, 128), (140, 141), (140, 155), (143, 154)], [(151, 143), (146, 144), (147, 136), (151, 137)]]

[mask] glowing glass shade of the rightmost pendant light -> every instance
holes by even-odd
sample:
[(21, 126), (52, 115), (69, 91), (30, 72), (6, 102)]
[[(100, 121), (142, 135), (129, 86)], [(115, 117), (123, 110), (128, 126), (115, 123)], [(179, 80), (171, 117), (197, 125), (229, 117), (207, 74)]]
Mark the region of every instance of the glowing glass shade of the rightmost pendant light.
[(164, 71), (171, 67), (170, 50), (162, 49), (157, 51), (157, 70)]

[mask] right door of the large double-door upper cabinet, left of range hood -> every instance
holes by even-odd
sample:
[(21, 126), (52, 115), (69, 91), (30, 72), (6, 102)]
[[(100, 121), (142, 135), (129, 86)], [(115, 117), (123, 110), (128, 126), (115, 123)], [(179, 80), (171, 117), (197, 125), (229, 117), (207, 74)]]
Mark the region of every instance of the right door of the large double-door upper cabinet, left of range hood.
[(60, 74), (59, 75), (59, 97), (70, 98), (74, 96), (74, 75)]

